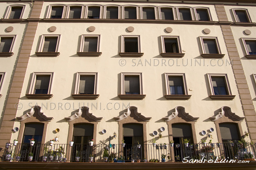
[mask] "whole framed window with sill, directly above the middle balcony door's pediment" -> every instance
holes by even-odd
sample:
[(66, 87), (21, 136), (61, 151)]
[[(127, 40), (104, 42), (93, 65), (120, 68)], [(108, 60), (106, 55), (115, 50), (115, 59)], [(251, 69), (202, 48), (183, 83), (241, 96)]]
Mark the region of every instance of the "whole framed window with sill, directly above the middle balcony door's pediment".
[(143, 99), (142, 74), (121, 73), (121, 94), (120, 99)]

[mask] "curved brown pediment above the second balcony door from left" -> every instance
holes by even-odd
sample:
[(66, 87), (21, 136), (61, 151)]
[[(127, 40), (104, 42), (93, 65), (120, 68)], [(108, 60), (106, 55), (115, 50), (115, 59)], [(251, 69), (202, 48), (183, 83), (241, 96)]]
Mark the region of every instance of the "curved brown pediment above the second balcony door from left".
[(67, 122), (71, 122), (74, 119), (78, 119), (79, 116), (81, 116), (83, 113), (86, 114), (87, 117), (89, 117), (89, 119), (93, 119), (95, 122), (100, 122), (103, 117), (96, 117), (93, 115), (93, 113), (90, 113), (90, 109), (87, 107), (80, 107), (79, 111), (69, 117), (65, 117), (65, 119), (67, 120)]

